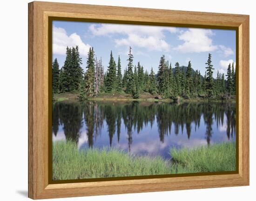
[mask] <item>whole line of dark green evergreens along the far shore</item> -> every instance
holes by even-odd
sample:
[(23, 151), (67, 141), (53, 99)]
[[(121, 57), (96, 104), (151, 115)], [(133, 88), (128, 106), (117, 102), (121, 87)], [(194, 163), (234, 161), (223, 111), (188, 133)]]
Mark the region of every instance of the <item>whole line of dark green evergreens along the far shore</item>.
[(64, 65), (59, 69), (57, 58), (52, 64), (52, 91), (79, 92), (81, 100), (97, 96), (100, 92), (125, 92), (134, 98), (139, 98), (143, 92), (160, 95), (163, 98), (172, 97), (228, 97), (236, 94), (236, 72), (234, 63), (229, 64), (227, 74), (217, 72), (213, 78), (213, 65), (211, 54), (205, 63), (206, 71), (202, 77), (201, 72), (188, 66), (180, 66), (178, 62), (172, 64), (164, 55), (160, 58), (158, 72), (155, 74), (143, 69), (140, 62), (134, 65), (132, 48), (129, 48), (127, 67), (121, 72), (121, 59), (117, 64), (110, 52), (108, 69), (104, 72), (101, 58), (95, 55), (94, 48), (90, 48), (86, 63), (86, 72), (83, 71), (79, 47), (67, 47)]

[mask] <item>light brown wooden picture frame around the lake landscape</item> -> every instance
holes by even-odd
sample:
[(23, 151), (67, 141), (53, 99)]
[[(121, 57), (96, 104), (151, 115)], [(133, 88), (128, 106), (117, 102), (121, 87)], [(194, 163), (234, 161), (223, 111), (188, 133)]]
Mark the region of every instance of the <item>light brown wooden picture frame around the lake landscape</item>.
[[(49, 167), (49, 19), (236, 30), (237, 169), (234, 174), (190, 174), (129, 180), (51, 183)], [(249, 185), (249, 15), (202, 13), (34, 1), (28, 4), (28, 197), (110, 195)]]

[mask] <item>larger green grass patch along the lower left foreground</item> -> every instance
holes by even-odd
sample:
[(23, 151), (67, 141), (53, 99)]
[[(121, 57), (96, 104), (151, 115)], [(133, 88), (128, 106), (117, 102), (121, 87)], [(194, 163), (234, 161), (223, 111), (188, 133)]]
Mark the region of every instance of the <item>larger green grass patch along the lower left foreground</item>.
[(53, 144), (54, 180), (160, 174), (171, 174), (161, 157), (130, 156), (118, 149), (79, 151), (72, 142)]

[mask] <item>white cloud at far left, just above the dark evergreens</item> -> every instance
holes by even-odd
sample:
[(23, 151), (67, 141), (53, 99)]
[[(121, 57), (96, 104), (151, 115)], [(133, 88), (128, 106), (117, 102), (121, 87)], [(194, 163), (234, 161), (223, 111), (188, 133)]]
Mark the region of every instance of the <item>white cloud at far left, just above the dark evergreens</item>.
[(53, 53), (65, 55), (67, 46), (79, 46), (79, 52), (83, 56), (87, 56), (90, 45), (84, 44), (81, 37), (77, 33), (67, 35), (65, 29), (61, 27), (53, 27)]

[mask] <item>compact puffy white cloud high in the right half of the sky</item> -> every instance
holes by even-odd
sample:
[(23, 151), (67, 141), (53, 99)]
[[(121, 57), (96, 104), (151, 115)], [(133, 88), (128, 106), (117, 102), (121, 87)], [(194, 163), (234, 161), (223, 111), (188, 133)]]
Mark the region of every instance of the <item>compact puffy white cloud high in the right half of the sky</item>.
[(188, 31), (180, 33), (179, 39), (184, 43), (174, 49), (183, 53), (215, 51), (218, 46), (212, 44), (212, 39), (209, 38), (212, 35), (214, 33), (209, 29), (190, 28)]

